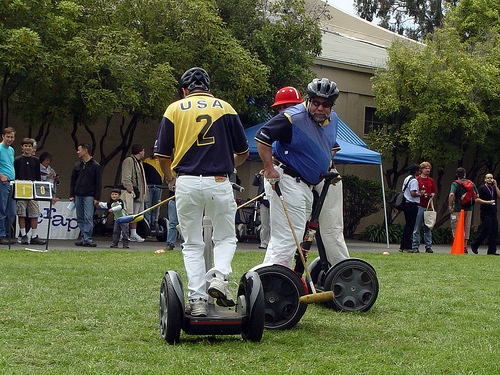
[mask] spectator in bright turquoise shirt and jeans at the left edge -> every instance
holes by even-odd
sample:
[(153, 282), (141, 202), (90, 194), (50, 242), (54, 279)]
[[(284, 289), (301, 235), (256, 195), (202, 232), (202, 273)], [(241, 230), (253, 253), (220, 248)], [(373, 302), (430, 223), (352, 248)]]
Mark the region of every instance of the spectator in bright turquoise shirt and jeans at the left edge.
[(15, 139), (14, 128), (3, 129), (2, 142), (0, 142), (0, 245), (10, 244), (7, 235), (16, 217), (14, 201), (10, 199), (10, 181), (16, 179), (14, 149), (11, 146)]

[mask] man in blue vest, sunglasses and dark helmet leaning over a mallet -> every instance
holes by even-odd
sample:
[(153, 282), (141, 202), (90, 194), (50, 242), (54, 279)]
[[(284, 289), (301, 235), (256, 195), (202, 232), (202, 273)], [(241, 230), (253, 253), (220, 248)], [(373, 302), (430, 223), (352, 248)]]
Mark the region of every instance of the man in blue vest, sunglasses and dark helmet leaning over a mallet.
[(315, 78), (307, 86), (307, 96), (304, 103), (273, 117), (255, 136), (271, 206), (271, 240), (264, 263), (288, 268), (296, 245), (279, 197), (271, 189), (279, 181), (295, 233), (302, 235), (312, 210), (312, 188), (328, 172), (337, 138), (338, 118), (332, 111), (339, 96), (335, 82)]

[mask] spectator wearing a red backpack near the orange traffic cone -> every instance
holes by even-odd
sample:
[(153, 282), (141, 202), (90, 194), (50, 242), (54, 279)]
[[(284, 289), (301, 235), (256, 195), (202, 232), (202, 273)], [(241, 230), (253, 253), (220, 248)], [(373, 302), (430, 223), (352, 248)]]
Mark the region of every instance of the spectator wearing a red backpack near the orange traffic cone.
[[(455, 237), (455, 231), (457, 229), (458, 219), (460, 218), (460, 211), (464, 210), (465, 220), (464, 220), (464, 253), (467, 254), (467, 245), (470, 237), (470, 226), (472, 222), (472, 211), (474, 209), (474, 205), (470, 205), (469, 207), (463, 207), (461, 203), (461, 191), (462, 186), (460, 182), (470, 181), (467, 179), (467, 171), (465, 168), (457, 168), (456, 171), (457, 180), (453, 181), (451, 184), (450, 195), (448, 197), (448, 209), (450, 212), (450, 222), (451, 222), (451, 231), (453, 232), (453, 237)], [(474, 192), (476, 195), (478, 194), (477, 187), (474, 185), (472, 181), (470, 181), (474, 188)]]

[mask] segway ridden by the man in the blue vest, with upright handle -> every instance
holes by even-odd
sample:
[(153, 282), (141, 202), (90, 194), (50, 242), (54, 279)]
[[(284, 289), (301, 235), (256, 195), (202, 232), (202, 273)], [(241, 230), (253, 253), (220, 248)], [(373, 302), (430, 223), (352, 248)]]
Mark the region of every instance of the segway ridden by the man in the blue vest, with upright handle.
[[(330, 182), (338, 177), (338, 173), (330, 172), (322, 177), (325, 183), (307, 223), (304, 241), (300, 244), (304, 257), (315, 239), (319, 214)], [(378, 281), (373, 267), (361, 259), (353, 258), (331, 267), (320, 242), (318, 241), (318, 250), (321, 259), (315, 259), (308, 271), (318, 291), (333, 292), (333, 298), (325, 299), (322, 303), (336, 310), (367, 311), (378, 295)], [(299, 260), (300, 255), (297, 254), (293, 270), (277, 264), (263, 264), (252, 269), (259, 274), (264, 287), (266, 329), (292, 328), (306, 311), (307, 304), (304, 301), (311, 296), (312, 288), (308, 288), (302, 278), (305, 269)]]

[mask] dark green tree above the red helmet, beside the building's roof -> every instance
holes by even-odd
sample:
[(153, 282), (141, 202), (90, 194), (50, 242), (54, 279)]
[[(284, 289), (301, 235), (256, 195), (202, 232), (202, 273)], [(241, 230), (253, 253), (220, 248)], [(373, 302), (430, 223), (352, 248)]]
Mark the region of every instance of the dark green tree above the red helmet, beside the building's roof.
[(310, 66), (321, 53), (318, 21), (326, 4), (306, 9), (303, 0), (217, 0), (219, 12), (241, 44), (269, 68), (264, 89), (247, 95), (240, 116), (246, 123), (267, 120), (270, 105), (283, 86), (305, 88), (313, 78)]

